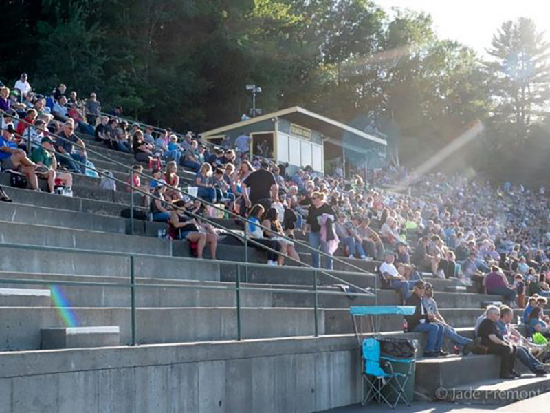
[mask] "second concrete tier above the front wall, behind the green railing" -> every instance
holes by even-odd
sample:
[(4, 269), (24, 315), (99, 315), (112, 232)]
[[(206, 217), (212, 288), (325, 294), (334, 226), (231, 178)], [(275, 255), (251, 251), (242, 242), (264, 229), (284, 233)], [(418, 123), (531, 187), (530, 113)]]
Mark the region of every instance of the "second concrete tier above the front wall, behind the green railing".
[[(127, 307), (130, 306), (129, 288), (109, 288), (108, 286), (79, 286), (56, 284), (56, 282), (102, 282), (111, 284), (128, 284), (128, 277), (98, 277), (86, 275), (58, 275), (36, 273), (0, 273), (3, 279), (19, 279), (51, 281), (55, 286), (56, 294), (62, 295), (65, 302), (78, 307)], [(158, 284), (158, 286), (137, 287), (135, 303), (141, 307), (230, 307), (236, 306), (236, 292), (234, 290), (220, 290), (214, 288), (235, 288), (234, 283), (225, 282), (192, 282), (173, 279), (137, 279), (137, 284)], [(166, 284), (166, 287), (163, 285)], [(169, 286), (168, 286), (169, 284)], [(13, 284), (21, 286), (21, 284)], [(5, 284), (12, 286), (12, 284)], [(40, 284), (23, 284), (24, 288), (36, 288)], [(176, 288), (173, 288), (175, 286)], [(177, 288), (190, 286), (191, 288)], [(201, 288), (202, 287), (202, 288)], [(242, 290), (241, 306), (245, 307), (296, 307), (314, 308), (314, 295), (311, 286), (266, 284), (241, 284), (242, 288), (258, 288), (258, 290)], [(260, 289), (261, 288), (261, 289)], [(268, 288), (274, 288), (269, 290)], [(49, 292), (49, 290), (47, 290)], [(372, 305), (374, 297), (371, 295), (355, 296), (350, 299), (347, 295), (323, 294), (340, 293), (335, 286), (319, 287), (318, 306), (320, 308), (349, 308), (350, 305)]]

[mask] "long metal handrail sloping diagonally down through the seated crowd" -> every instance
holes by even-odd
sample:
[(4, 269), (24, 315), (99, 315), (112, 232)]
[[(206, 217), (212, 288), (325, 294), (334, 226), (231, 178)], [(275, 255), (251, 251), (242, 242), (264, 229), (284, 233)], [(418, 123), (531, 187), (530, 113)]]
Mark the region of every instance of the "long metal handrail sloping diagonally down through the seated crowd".
[[(3, 111), (0, 111), (0, 112), (1, 112), (2, 114), (5, 113), (5, 112), (3, 112)], [(0, 126), (1, 126), (1, 122), (2, 122), (2, 121), (3, 121), (3, 118), (0, 116)], [(47, 132), (48, 134), (50, 134), (51, 136), (55, 136), (57, 139), (61, 139), (61, 140), (64, 140), (64, 141), (68, 141), (67, 138), (64, 138), (63, 136), (58, 136), (58, 135), (56, 135), (56, 134), (52, 134), (50, 131), (47, 131), (47, 129), (37, 128), (37, 127), (35, 127), (34, 125), (32, 125), (31, 123), (28, 123), (28, 122), (27, 122), (26, 120), (24, 120), (24, 119), (20, 119), (19, 122), (23, 122), (23, 123), (25, 123), (26, 125), (28, 125), (28, 126), (30, 126), (30, 127), (34, 127), (34, 128), (39, 129), (39, 130), (41, 130), (41, 131), (45, 131), (45, 132)], [(30, 133), (30, 129), (29, 129), (29, 133)], [(78, 147), (78, 148), (80, 148), (80, 149), (84, 149), (85, 151), (87, 151), (87, 152), (89, 152), (89, 153), (94, 153), (94, 155), (98, 155), (98, 156), (104, 158), (104, 160), (109, 160), (109, 162), (113, 162), (115, 165), (119, 165), (119, 166), (123, 167), (124, 169), (129, 170), (129, 173), (130, 173), (130, 174), (135, 173), (135, 171), (133, 171), (132, 167), (129, 167), (128, 165), (124, 165), (122, 162), (118, 162), (118, 161), (116, 161), (116, 160), (113, 160), (113, 159), (109, 158), (108, 156), (105, 156), (105, 155), (103, 155), (102, 153), (99, 153), (98, 151), (94, 151), (93, 149), (92, 149), (92, 150), (89, 150), (89, 149), (87, 149), (86, 147), (80, 147), (80, 145), (78, 145), (78, 143), (75, 143), (75, 142), (72, 142), (72, 143), (73, 143), (74, 146), (76, 146), (76, 147)], [(30, 142), (29, 142), (29, 145), (30, 145)], [(34, 145), (37, 145), (37, 144), (34, 144)], [(42, 146), (42, 145), (39, 145), (39, 146)], [(70, 158), (70, 156), (65, 156), (65, 155), (63, 155), (62, 153), (60, 153), (59, 155), (62, 156), (62, 157), (64, 157), (64, 158)], [(70, 159), (72, 159), (72, 158), (70, 158)], [(80, 165), (82, 165), (81, 162), (77, 162), (77, 161), (75, 161), (75, 162), (78, 163), (78, 164), (80, 164)], [(96, 171), (96, 173), (100, 174), (101, 176), (107, 176), (104, 172), (99, 171), (98, 169), (94, 169), (94, 168), (90, 168), (90, 167), (87, 167), (87, 169), (91, 169), (91, 170), (93, 170), (93, 171)], [(145, 173), (139, 173), (139, 174), (140, 174), (140, 176), (142, 176), (142, 177), (144, 177), (144, 178), (147, 178), (148, 180), (155, 180), (155, 178), (153, 178), (153, 176), (148, 176), (148, 175), (146, 175)], [(131, 175), (130, 175), (130, 176), (131, 176)], [(133, 184), (128, 184), (127, 182), (123, 182), (122, 180), (119, 180), (118, 178), (111, 177), (111, 176), (108, 176), (108, 178), (109, 178), (109, 179), (115, 180), (115, 182), (120, 182), (121, 184), (123, 184), (123, 185), (126, 186), (126, 187), (131, 187), (131, 215), (132, 215), (132, 216), (131, 216), (131, 224), (132, 224), (132, 226), (133, 226), (133, 191), (137, 191), (138, 193), (142, 193), (143, 195), (148, 195), (151, 199), (156, 199), (156, 200), (161, 200), (161, 201), (162, 201), (161, 198), (157, 198), (157, 197), (155, 197), (155, 196), (152, 195), (152, 194), (148, 194), (148, 193), (142, 191), (142, 190), (139, 189), (139, 188), (134, 188), (134, 187), (133, 187)], [(132, 182), (132, 180), (131, 180), (131, 182)], [(173, 190), (175, 190), (175, 191), (179, 191), (179, 193), (182, 193), (181, 189), (179, 189), (179, 188), (173, 187), (173, 186), (168, 185), (168, 184), (166, 185), (166, 187), (168, 187), (168, 188), (170, 188), (170, 189), (173, 189)], [(270, 228), (267, 228), (267, 227), (265, 227), (265, 226), (263, 226), (263, 225), (261, 225), (261, 224), (256, 224), (255, 222), (252, 222), (252, 221), (248, 220), (248, 218), (241, 217), (241, 215), (237, 215), (236, 213), (233, 213), (232, 211), (225, 211), (225, 209), (219, 208), (216, 204), (212, 204), (212, 203), (210, 203), (210, 202), (208, 202), (208, 201), (206, 201), (206, 200), (203, 200), (203, 199), (201, 199), (201, 198), (199, 198), (199, 197), (196, 197), (196, 196), (194, 196), (194, 195), (190, 195), (189, 193), (186, 193), (186, 192), (183, 192), (183, 193), (185, 193), (188, 197), (192, 198), (193, 200), (199, 200), (199, 201), (202, 202), (203, 204), (206, 204), (206, 205), (208, 205), (208, 206), (210, 206), (210, 207), (212, 207), (212, 208), (214, 208), (214, 209), (217, 209), (218, 211), (223, 211), (223, 213), (228, 213), (228, 215), (233, 216), (234, 218), (236, 218), (237, 220), (240, 220), (241, 222), (245, 222), (245, 223), (248, 223), (248, 224), (254, 224), (254, 225), (256, 225), (256, 226), (259, 226), (261, 229), (263, 229), (263, 230), (265, 230), (265, 231), (271, 231)], [(236, 237), (244, 238), (244, 240), (245, 240), (245, 255), (248, 255), (248, 248), (247, 248), (248, 242), (252, 242), (254, 245), (259, 246), (259, 247), (261, 247), (261, 248), (263, 248), (263, 249), (265, 249), (265, 250), (267, 250), (267, 251), (270, 251), (270, 252), (273, 252), (273, 253), (278, 253), (279, 255), (283, 255), (285, 258), (289, 258), (289, 259), (292, 260), (292, 261), (296, 261), (294, 258), (290, 257), (289, 255), (282, 254), (282, 253), (280, 253), (279, 251), (276, 251), (276, 250), (274, 250), (274, 249), (272, 249), (272, 248), (269, 248), (269, 247), (267, 247), (267, 246), (265, 246), (265, 245), (263, 245), (263, 244), (261, 244), (261, 243), (259, 243), (259, 242), (255, 242), (252, 238), (247, 237), (247, 235), (246, 235), (246, 234), (247, 234), (247, 231), (246, 231), (246, 230), (245, 230), (245, 235), (244, 235), (244, 237), (243, 237), (243, 236), (240, 235), (239, 233), (235, 233), (234, 231), (232, 231), (232, 230), (230, 230), (230, 229), (228, 229), (228, 228), (225, 228), (225, 227), (222, 226), (221, 224), (218, 224), (218, 223), (216, 223), (216, 222), (212, 222), (212, 220), (208, 220), (207, 218), (202, 217), (201, 215), (197, 215), (197, 214), (195, 214), (195, 213), (192, 213), (192, 212), (190, 212), (190, 211), (184, 210), (184, 209), (182, 209), (182, 208), (180, 208), (180, 207), (177, 207), (177, 206), (175, 206), (175, 205), (173, 205), (173, 208), (175, 208), (175, 209), (177, 209), (177, 210), (179, 210), (179, 211), (185, 211), (185, 212), (188, 213), (189, 215), (192, 215), (194, 218), (197, 218), (197, 219), (199, 219), (199, 220), (201, 220), (201, 221), (204, 221), (204, 222), (208, 222), (208, 224), (211, 224), (211, 225), (213, 225), (213, 226), (217, 226), (217, 227), (219, 227), (219, 228), (221, 228), (221, 229), (225, 229), (225, 231), (229, 231), (230, 233), (232, 233), (232, 235), (234, 235), (234, 236), (236, 236)], [(358, 267), (358, 266), (355, 266), (355, 265), (353, 265), (353, 264), (350, 264), (349, 262), (345, 262), (344, 260), (341, 260), (339, 257), (334, 257), (333, 255), (327, 254), (327, 253), (325, 253), (325, 252), (323, 252), (323, 251), (316, 250), (315, 248), (313, 248), (313, 247), (311, 247), (311, 246), (309, 246), (309, 245), (307, 245), (307, 244), (305, 244), (305, 243), (303, 243), (303, 242), (299, 242), (298, 240), (295, 240), (295, 239), (293, 239), (293, 238), (287, 237), (286, 235), (278, 235), (278, 237), (281, 237), (281, 238), (283, 238), (283, 239), (285, 239), (285, 240), (288, 240), (288, 241), (292, 241), (292, 242), (294, 242), (294, 243), (296, 243), (296, 244), (298, 244), (298, 245), (300, 245), (300, 246), (303, 246), (303, 247), (307, 248), (307, 249), (310, 250), (310, 251), (314, 251), (315, 253), (318, 253), (320, 256), (330, 257), (331, 260), (336, 261), (336, 262), (340, 262), (340, 264), (344, 264), (345, 266), (348, 266), (349, 268), (353, 268), (353, 269), (357, 270), (357, 271), (360, 272), (360, 273), (369, 274), (367, 271), (364, 271), (363, 268), (360, 268), (360, 267)], [(247, 259), (247, 261), (248, 261), (248, 259)], [(299, 261), (298, 261), (298, 262), (299, 262)], [(303, 262), (299, 262), (299, 263), (300, 263), (301, 265), (304, 265), (304, 266), (309, 266), (308, 264), (305, 264), (305, 263), (303, 263)], [(313, 266), (310, 266), (310, 267), (311, 267), (311, 268), (314, 268)], [(324, 270), (319, 270), (319, 271), (322, 271), (322, 273), (325, 273)], [(327, 273), (327, 275), (329, 275), (329, 274)], [(335, 276), (333, 276), (333, 275), (330, 275), (330, 276), (331, 276), (331, 277), (335, 277)], [(338, 281), (340, 281), (340, 282), (345, 282), (344, 280), (339, 279), (338, 277), (335, 277), (335, 278), (338, 279)], [(362, 290), (362, 288), (360, 288), (360, 287), (358, 287), (358, 286), (355, 286), (355, 285), (353, 285), (353, 284), (351, 284), (351, 283), (349, 283), (349, 282), (345, 282), (345, 283), (348, 284), (348, 285), (350, 285), (350, 286), (353, 286), (354, 288), (359, 288), (360, 290)], [(375, 288), (376, 288), (376, 286), (375, 286)], [(366, 291), (365, 291), (365, 292), (366, 292)]]

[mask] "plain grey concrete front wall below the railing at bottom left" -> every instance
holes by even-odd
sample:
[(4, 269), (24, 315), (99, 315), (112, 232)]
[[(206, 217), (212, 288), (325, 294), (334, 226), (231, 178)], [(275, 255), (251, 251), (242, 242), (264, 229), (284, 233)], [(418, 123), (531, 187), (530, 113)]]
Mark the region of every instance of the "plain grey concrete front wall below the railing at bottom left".
[(2, 357), (0, 413), (307, 413), (360, 401), (355, 337)]

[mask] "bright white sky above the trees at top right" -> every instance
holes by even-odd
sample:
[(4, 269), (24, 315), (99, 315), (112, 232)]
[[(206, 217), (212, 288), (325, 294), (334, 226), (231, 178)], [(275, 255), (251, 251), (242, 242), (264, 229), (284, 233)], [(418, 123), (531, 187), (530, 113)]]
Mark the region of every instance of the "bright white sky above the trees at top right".
[(507, 20), (530, 17), (550, 39), (550, 0), (375, 0), (390, 11), (393, 6), (432, 15), (443, 39), (453, 39), (481, 54), (491, 46), (493, 34)]

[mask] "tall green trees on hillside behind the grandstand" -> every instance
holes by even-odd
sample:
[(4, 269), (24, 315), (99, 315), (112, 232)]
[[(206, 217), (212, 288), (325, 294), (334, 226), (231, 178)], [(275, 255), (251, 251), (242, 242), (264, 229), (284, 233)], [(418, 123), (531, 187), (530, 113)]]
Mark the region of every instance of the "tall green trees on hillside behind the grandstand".
[(440, 168), (547, 184), (550, 46), (503, 22), (487, 56), (440, 39), (429, 15), (368, 0), (4, 0), (0, 79), (28, 72), (154, 125), (202, 131), (300, 105), (377, 120), (416, 166), (467, 135)]

